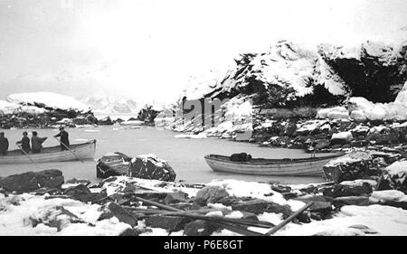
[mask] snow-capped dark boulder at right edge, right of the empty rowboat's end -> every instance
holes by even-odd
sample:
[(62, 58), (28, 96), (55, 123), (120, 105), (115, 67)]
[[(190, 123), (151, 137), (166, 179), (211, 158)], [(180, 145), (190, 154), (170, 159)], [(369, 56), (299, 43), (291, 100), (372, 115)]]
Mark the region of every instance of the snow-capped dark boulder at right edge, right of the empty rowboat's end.
[(407, 193), (407, 161), (395, 162), (385, 168), (377, 190), (398, 190)]

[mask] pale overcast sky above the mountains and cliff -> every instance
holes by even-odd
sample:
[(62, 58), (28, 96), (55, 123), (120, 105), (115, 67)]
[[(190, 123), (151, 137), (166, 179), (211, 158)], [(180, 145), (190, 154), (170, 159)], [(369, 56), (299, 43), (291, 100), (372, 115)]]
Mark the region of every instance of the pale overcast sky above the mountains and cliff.
[(405, 0), (0, 0), (0, 99), (50, 90), (177, 97), (280, 39), (354, 43), (407, 25)]

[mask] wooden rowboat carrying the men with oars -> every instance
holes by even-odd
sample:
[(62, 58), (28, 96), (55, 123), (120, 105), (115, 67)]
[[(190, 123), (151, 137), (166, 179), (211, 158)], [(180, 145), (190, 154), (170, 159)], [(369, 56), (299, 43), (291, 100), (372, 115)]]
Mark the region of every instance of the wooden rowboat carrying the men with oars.
[[(81, 144), (69, 146), (71, 151), (78, 155), (80, 159), (93, 159), (96, 149), (96, 140), (90, 140)], [(61, 146), (44, 147), (40, 154), (29, 154), (34, 163), (67, 162), (79, 160), (70, 151), (61, 151)], [(32, 161), (27, 155), (23, 155), (21, 150), (9, 151), (7, 155), (0, 155), (0, 165), (2, 164), (30, 164)]]

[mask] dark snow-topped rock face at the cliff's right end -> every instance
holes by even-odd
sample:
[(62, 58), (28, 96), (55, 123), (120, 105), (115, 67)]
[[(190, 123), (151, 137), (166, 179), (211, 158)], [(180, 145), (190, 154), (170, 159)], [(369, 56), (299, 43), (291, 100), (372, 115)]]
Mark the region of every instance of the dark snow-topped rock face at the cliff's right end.
[(407, 80), (407, 45), (364, 42), (346, 49), (321, 44), (318, 53), (345, 81), (353, 96), (374, 102), (390, 102)]

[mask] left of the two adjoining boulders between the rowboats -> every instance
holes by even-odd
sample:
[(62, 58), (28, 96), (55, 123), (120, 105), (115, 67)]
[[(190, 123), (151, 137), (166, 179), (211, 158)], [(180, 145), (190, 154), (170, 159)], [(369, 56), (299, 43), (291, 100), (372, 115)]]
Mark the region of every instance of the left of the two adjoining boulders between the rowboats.
[(125, 175), (128, 173), (128, 166), (131, 157), (118, 152), (103, 155), (96, 165), (96, 176), (108, 178), (114, 175)]

